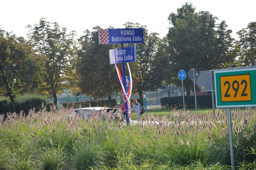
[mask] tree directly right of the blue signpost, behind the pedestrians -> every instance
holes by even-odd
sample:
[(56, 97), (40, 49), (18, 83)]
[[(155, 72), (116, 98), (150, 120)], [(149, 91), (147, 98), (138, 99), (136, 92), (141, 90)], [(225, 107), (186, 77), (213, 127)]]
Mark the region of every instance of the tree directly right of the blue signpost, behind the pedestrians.
[[(129, 44), (137, 48), (137, 71), (133, 81), (134, 90), (139, 93), (142, 101), (142, 93), (146, 91), (156, 91), (163, 89), (163, 80), (167, 74), (166, 60), (163, 55), (165, 46), (163, 41), (158, 37), (158, 33), (148, 34), (146, 26), (140, 26), (139, 23), (125, 23), (125, 28), (143, 28), (144, 43)], [(142, 103), (143, 105), (143, 103)]]

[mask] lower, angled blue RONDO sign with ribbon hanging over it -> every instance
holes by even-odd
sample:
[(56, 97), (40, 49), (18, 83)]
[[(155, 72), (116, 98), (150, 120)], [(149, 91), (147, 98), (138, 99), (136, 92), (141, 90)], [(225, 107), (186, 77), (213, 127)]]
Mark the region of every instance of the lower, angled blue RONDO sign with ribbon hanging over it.
[(109, 63), (136, 62), (136, 47), (114, 48), (109, 51)]

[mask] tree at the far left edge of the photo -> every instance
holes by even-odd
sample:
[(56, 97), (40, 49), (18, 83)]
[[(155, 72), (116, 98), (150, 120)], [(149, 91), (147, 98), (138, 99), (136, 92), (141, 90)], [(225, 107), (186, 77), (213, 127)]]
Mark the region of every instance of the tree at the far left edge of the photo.
[(37, 56), (29, 43), (0, 29), (0, 89), (10, 98), (14, 112), (17, 113), (14, 99), (31, 87), (37, 70)]

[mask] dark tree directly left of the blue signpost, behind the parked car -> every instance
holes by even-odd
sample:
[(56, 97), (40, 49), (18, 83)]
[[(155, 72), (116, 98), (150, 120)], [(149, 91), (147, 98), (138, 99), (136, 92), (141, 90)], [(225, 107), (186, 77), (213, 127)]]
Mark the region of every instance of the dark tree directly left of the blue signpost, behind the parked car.
[(121, 91), (119, 79), (114, 65), (109, 64), (108, 50), (117, 45), (100, 45), (99, 26), (93, 32), (86, 30), (79, 38), (81, 49), (78, 50), (78, 75), (81, 92), (94, 98), (108, 97), (109, 107), (112, 106), (111, 95)]

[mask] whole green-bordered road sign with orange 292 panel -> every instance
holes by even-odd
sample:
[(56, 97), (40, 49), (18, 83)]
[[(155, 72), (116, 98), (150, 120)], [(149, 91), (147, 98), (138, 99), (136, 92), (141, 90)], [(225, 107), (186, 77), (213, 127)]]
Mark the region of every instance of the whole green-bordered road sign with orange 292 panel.
[(256, 67), (214, 71), (216, 108), (256, 106)]

